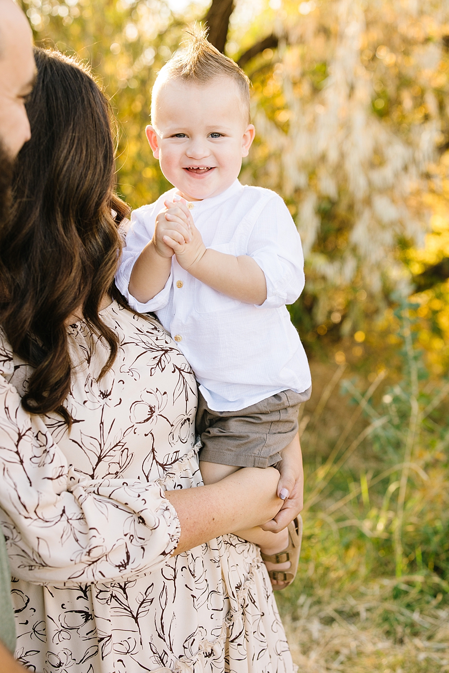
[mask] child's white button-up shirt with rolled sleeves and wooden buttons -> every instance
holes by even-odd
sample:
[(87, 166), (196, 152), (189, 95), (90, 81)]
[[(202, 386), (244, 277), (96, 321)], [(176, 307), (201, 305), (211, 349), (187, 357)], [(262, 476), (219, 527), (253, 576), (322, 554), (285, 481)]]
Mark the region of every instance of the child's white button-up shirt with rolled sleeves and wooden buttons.
[(211, 199), (189, 203), (207, 248), (252, 257), (267, 281), (261, 306), (245, 304), (212, 289), (172, 258), (170, 277), (146, 304), (129, 294), (133, 264), (151, 240), (156, 216), (172, 189), (133, 212), (116, 283), (130, 306), (156, 313), (186, 356), (210, 409), (237, 411), (291, 389), (311, 385), (310, 369), (285, 304), (304, 287), (300, 235), (275, 192), (242, 186), (238, 180)]

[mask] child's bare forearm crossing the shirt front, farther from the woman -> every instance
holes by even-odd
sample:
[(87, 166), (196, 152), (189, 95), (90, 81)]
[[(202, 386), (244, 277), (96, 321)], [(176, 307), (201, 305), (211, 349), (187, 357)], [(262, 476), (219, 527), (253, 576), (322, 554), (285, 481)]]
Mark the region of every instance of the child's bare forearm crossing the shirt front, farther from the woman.
[[(184, 203), (179, 205), (184, 214), (188, 213)], [(240, 302), (256, 305), (265, 302), (267, 282), (257, 262), (247, 255), (236, 257), (206, 248), (193, 221), (190, 234), (191, 242), (185, 244), (170, 238), (168, 234), (164, 236), (164, 242), (174, 250), (182, 269), (205, 285)]]

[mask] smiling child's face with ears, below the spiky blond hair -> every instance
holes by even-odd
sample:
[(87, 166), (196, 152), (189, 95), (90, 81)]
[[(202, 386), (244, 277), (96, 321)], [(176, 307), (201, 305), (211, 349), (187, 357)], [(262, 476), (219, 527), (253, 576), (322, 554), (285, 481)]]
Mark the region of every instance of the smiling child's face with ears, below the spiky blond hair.
[(167, 180), (188, 201), (230, 187), (254, 139), (236, 83), (228, 77), (200, 86), (173, 79), (162, 84), (156, 103), (146, 133)]

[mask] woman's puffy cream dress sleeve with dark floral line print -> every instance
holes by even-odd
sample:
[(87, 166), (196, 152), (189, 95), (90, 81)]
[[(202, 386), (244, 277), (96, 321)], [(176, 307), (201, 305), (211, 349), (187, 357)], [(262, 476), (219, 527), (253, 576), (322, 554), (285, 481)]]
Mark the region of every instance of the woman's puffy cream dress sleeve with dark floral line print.
[(0, 523), (11, 572), (35, 584), (124, 580), (160, 568), (180, 524), (158, 482), (79, 478), (0, 375)]

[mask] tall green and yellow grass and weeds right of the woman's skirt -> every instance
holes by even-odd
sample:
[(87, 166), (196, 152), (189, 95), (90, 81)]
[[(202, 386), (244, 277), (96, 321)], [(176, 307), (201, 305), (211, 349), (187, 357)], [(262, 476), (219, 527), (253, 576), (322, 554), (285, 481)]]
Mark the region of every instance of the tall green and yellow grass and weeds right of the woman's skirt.
[(300, 670), (449, 670), (449, 379), (429, 376), (412, 309), (374, 381), (328, 368), (302, 410), (303, 552), (278, 595)]

